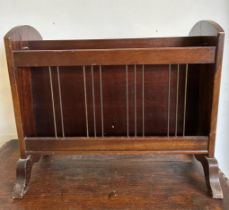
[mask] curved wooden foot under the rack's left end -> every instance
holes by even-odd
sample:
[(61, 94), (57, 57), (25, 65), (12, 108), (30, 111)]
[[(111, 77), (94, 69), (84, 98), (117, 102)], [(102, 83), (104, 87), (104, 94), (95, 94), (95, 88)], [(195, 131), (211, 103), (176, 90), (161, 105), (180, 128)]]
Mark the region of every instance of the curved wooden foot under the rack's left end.
[(23, 198), (28, 190), (33, 164), (39, 161), (39, 159), (39, 156), (28, 156), (26, 159), (19, 159), (17, 161), (13, 198)]

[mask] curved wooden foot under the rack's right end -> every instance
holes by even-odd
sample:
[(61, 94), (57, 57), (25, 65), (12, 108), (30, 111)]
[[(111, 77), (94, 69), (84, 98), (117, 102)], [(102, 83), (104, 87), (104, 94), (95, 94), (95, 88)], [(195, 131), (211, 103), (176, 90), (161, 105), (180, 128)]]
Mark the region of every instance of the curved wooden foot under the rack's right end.
[(216, 199), (223, 199), (223, 191), (219, 180), (219, 168), (217, 160), (215, 158), (209, 158), (203, 155), (196, 155), (195, 157), (203, 166), (206, 184), (212, 197)]

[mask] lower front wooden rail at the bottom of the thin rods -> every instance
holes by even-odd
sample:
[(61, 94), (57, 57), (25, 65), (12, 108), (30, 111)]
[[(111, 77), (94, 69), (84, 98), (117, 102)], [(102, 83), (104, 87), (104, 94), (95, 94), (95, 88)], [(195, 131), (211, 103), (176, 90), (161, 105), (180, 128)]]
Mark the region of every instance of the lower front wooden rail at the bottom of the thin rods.
[(208, 137), (25, 138), (27, 151), (207, 151)]

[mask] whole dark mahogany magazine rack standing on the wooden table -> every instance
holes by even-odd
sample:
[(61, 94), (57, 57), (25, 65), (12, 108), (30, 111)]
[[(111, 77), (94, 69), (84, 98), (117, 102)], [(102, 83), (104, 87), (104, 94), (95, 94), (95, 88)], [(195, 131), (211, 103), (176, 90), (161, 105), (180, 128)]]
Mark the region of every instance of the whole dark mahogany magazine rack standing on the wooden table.
[(191, 154), (213, 198), (224, 31), (200, 21), (187, 37), (42, 40), (5, 35), (20, 147), (14, 198), (33, 164), (56, 154)]

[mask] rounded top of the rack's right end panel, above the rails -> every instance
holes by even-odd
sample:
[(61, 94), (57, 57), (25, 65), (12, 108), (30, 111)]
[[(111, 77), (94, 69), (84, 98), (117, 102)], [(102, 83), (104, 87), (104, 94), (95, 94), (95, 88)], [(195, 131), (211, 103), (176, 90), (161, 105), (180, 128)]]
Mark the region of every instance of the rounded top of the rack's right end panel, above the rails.
[(212, 20), (201, 20), (197, 22), (189, 32), (190, 36), (217, 36), (224, 33), (223, 28)]

